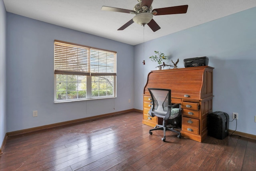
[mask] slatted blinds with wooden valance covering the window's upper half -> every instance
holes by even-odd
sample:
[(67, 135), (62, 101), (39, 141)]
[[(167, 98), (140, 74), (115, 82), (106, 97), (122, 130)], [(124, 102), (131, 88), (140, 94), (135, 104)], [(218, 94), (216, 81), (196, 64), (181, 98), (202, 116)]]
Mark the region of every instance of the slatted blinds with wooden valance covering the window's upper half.
[(116, 52), (55, 40), (54, 74), (116, 76)]

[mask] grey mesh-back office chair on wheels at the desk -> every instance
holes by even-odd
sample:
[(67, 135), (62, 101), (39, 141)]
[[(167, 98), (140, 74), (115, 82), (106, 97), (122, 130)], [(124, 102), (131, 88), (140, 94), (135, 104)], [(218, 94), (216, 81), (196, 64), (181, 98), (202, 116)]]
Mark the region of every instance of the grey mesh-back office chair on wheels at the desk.
[[(154, 129), (150, 129), (149, 133), (152, 135), (154, 130), (163, 130), (164, 137), (162, 141), (165, 142), (166, 131), (173, 131), (178, 133), (178, 138), (181, 138), (180, 131), (176, 131), (174, 127), (168, 127), (168, 119), (172, 119), (172, 123), (176, 123), (175, 119), (180, 119), (181, 117), (181, 105), (176, 103), (172, 105), (171, 103), (171, 90), (170, 89), (159, 89), (159, 88), (148, 88), (152, 105), (149, 111), (151, 117), (157, 116), (163, 118), (163, 125), (156, 125)], [(178, 108), (177, 108), (178, 107)], [(180, 120), (179, 120), (180, 121)], [(178, 121), (178, 122), (179, 122)]]

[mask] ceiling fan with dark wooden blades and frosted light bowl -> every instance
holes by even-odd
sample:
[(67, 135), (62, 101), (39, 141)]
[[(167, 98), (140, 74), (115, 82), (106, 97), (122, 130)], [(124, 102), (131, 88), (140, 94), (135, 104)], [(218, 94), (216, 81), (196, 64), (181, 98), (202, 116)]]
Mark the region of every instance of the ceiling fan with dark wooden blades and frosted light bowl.
[(133, 10), (126, 10), (122, 8), (115, 8), (109, 6), (102, 6), (101, 10), (135, 14), (135, 16), (130, 21), (128, 21), (118, 30), (124, 30), (132, 23), (136, 22), (137, 24), (140, 24), (142, 26), (148, 24), (148, 26), (153, 30), (153, 32), (156, 32), (160, 29), (160, 26), (158, 26), (158, 24), (155, 22), (153, 16), (168, 14), (184, 14), (188, 10), (188, 5), (157, 8), (152, 10), (151, 4), (153, 0), (138, 0), (138, 2), (139, 3), (134, 6)]

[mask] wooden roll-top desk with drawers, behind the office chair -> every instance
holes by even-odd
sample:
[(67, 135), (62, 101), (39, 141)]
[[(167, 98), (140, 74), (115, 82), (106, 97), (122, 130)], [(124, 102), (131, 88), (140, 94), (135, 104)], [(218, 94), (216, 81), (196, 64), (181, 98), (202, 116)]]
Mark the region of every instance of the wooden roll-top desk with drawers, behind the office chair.
[(202, 142), (207, 136), (207, 115), (212, 112), (212, 74), (210, 66), (156, 70), (148, 74), (143, 93), (142, 123), (162, 124), (162, 119), (150, 117), (151, 97), (148, 88), (171, 89), (172, 103), (182, 105), (182, 137)]

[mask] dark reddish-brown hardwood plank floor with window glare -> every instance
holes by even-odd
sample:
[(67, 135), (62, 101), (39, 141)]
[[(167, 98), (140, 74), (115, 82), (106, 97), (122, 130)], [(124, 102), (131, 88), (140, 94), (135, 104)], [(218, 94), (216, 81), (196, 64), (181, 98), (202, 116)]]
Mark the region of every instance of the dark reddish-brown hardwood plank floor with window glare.
[(1, 171), (255, 171), (256, 140), (208, 137), (199, 143), (175, 133), (148, 133), (142, 113), (10, 136)]

